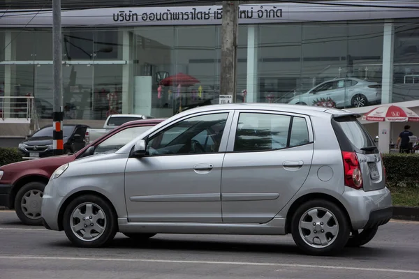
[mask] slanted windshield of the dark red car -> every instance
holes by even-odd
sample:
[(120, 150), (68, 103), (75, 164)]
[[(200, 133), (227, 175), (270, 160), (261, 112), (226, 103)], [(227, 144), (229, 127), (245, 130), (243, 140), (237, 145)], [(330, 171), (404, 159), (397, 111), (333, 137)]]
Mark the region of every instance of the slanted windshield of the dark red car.
[(94, 153), (98, 154), (115, 152), (128, 142), (131, 142), (131, 140), (135, 139), (135, 137), (138, 137), (146, 130), (149, 130), (149, 128), (152, 128), (152, 126), (126, 128), (125, 130), (122, 130), (119, 133), (108, 137), (108, 139), (98, 144), (98, 146), (96, 146), (94, 149)]

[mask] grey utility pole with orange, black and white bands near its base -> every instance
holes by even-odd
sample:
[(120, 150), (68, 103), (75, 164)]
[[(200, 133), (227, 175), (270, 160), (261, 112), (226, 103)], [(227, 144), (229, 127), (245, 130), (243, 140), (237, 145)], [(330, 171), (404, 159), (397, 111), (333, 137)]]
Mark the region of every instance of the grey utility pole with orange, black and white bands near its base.
[(52, 49), (54, 63), (54, 104), (52, 113), (52, 142), (54, 156), (64, 153), (63, 128), (63, 91), (62, 91), (62, 50), (61, 50), (61, 0), (52, 0)]

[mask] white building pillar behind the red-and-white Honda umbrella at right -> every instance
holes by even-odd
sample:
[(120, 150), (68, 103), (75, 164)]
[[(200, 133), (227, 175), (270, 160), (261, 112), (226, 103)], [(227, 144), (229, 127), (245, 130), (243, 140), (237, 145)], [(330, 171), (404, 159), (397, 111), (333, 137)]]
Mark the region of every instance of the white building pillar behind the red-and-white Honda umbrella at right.
[[(393, 54), (395, 45), (395, 27), (392, 20), (385, 20), (383, 32), (383, 75), (381, 104), (392, 103)], [(378, 123), (378, 149), (381, 153), (390, 151), (391, 123)]]

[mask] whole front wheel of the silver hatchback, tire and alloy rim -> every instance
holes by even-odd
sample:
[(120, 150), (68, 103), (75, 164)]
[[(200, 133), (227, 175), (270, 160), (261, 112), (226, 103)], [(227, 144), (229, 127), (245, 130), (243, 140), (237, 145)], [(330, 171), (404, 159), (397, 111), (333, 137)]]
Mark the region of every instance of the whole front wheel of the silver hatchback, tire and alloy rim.
[(117, 215), (112, 204), (96, 195), (82, 195), (64, 211), (64, 232), (78, 247), (106, 246), (117, 233)]

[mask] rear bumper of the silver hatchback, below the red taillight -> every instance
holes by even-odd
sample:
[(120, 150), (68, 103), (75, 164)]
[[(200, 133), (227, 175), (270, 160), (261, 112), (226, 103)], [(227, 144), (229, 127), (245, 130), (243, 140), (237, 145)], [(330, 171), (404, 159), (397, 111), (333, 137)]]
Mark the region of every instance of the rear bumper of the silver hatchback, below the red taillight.
[(368, 191), (346, 188), (341, 202), (348, 211), (353, 229), (384, 225), (392, 218), (390, 190)]

